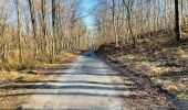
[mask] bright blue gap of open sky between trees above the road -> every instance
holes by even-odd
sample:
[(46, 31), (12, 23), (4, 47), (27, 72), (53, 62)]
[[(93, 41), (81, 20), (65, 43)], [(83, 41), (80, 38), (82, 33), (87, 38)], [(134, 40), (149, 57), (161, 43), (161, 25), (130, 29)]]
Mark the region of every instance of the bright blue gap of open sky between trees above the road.
[(83, 21), (85, 23), (85, 25), (88, 28), (88, 30), (94, 30), (95, 25), (94, 25), (94, 15), (93, 15), (93, 11), (95, 9), (95, 7), (97, 6), (98, 0), (81, 0), (81, 10), (82, 10), (82, 15)]

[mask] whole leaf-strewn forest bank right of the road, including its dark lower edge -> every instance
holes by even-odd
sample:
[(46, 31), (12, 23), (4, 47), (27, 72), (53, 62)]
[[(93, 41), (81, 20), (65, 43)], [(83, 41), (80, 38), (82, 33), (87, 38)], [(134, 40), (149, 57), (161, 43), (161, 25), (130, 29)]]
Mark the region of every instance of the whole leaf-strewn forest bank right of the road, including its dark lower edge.
[(148, 95), (157, 91), (182, 110), (188, 109), (188, 40), (176, 43), (169, 34), (140, 40), (136, 48), (122, 45), (103, 45), (96, 53)]

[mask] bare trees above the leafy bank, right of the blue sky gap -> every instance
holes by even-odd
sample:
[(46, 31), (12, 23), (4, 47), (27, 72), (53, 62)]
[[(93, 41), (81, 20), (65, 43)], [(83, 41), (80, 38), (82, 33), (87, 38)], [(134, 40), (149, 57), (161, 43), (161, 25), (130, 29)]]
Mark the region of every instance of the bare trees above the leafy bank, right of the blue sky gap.
[(95, 13), (100, 44), (115, 42), (118, 46), (118, 42), (122, 42), (132, 43), (136, 47), (137, 40), (158, 33), (170, 33), (179, 41), (180, 30), (188, 28), (187, 0), (100, 0), (100, 2), (101, 6)]

